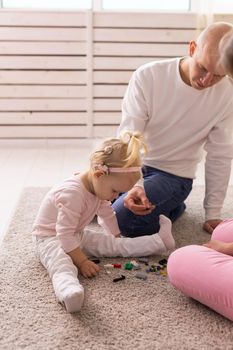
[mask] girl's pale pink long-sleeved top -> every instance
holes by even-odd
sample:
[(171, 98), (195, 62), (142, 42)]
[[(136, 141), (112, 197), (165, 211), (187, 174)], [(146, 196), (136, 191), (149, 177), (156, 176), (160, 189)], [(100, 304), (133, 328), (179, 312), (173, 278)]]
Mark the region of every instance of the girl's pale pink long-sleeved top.
[(87, 191), (80, 175), (54, 186), (45, 196), (33, 225), (33, 235), (57, 236), (65, 252), (79, 247), (83, 229), (98, 216), (106, 233), (120, 233), (111, 202)]

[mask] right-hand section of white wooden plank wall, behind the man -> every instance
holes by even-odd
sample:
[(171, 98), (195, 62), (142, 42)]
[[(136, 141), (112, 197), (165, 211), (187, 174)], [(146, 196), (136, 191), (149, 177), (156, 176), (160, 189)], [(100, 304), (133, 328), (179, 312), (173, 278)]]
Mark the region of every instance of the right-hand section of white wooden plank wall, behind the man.
[(93, 27), (93, 134), (110, 136), (120, 123), (133, 71), (147, 62), (186, 55), (188, 42), (197, 35), (197, 17), (97, 12)]

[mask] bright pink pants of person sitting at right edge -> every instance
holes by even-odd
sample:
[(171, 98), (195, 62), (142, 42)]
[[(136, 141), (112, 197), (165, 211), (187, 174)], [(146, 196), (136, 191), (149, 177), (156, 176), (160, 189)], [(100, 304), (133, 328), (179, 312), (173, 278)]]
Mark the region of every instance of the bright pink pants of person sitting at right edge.
[[(233, 242), (233, 219), (214, 230), (211, 239)], [(233, 320), (233, 257), (213, 249), (190, 245), (168, 259), (170, 282), (184, 294)]]

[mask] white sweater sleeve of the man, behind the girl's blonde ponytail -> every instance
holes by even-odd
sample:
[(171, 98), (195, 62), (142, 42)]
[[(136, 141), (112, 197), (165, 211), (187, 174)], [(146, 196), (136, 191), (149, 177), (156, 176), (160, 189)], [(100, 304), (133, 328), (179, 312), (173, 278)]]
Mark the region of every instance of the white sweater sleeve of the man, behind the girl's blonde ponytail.
[(148, 120), (148, 107), (143, 93), (143, 83), (139, 72), (133, 73), (122, 103), (122, 120), (118, 128), (143, 132)]

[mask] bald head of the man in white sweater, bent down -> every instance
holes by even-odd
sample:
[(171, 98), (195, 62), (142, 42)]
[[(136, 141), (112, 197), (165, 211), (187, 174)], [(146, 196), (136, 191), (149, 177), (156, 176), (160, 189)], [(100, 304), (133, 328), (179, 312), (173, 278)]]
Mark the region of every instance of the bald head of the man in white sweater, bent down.
[(189, 44), (189, 58), (181, 65), (181, 76), (195, 89), (202, 90), (218, 83), (227, 71), (220, 60), (219, 43), (231, 31), (230, 23), (217, 22), (208, 26)]

